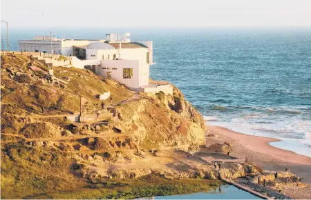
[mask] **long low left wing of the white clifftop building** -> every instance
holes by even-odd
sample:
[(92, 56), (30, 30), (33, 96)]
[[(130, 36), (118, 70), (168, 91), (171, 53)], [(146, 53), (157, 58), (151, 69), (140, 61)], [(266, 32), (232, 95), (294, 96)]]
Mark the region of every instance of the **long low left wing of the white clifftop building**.
[(34, 39), (19, 40), (19, 49), (26, 52), (46, 52), (65, 56), (75, 55), (75, 47), (104, 40), (91, 39), (57, 39), (57, 37), (35, 36)]

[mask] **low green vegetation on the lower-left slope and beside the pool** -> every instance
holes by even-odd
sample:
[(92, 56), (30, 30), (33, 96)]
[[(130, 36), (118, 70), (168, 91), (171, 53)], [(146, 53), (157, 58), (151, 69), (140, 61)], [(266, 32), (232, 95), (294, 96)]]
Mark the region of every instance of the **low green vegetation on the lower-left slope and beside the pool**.
[[(103, 156), (107, 156), (105, 153)], [(220, 181), (168, 180), (159, 174), (138, 179), (100, 179), (92, 183), (77, 177), (83, 168), (57, 148), (2, 145), (1, 199), (132, 199), (209, 191)]]

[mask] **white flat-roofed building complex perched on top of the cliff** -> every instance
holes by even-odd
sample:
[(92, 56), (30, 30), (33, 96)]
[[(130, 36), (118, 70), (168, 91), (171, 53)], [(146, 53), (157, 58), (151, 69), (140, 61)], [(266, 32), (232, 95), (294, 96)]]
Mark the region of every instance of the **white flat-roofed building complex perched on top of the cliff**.
[(102, 40), (35, 37), (34, 40), (19, 41), (19, 47), (21, 51), (69, 56), (75, 68), (91, 69), (102, 77), (123, 83), (130, 90), (173, 93), (168, 82), (149, 80), (149, 68), (153, 64), (153, 41), (133, 42), (130, 33), (109, 33)]

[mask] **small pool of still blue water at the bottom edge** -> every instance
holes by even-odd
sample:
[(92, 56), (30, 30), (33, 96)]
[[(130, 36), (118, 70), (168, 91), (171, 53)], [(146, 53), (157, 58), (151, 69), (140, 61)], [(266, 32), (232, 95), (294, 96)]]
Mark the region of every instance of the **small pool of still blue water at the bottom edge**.
[(211, 190), (209, 193), (198, 192), (194, 194), (178, 194), (171, 196), (157, 196), (157, 197), (147, 197), (142, 199), (261, 199), (249, 194), (243, 190), (240, 190), (234, 186), (223, 185), (216, 190)]

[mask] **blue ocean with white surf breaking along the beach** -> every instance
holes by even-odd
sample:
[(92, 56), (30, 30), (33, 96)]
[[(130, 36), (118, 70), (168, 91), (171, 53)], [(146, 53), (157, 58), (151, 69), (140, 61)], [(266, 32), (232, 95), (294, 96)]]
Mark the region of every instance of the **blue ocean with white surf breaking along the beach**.
[[(311, 157), (311, 29), (118, 29), (153, 40), (152, 79), (168, 80), (207, 124), (281, 139), (272, 146)], [(104, 28), (59, 28), (59, 37), (97, 39)], [(10, 30), (18, 39), (48, 34)]]

